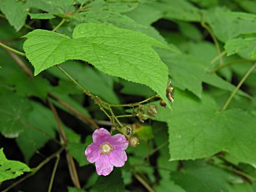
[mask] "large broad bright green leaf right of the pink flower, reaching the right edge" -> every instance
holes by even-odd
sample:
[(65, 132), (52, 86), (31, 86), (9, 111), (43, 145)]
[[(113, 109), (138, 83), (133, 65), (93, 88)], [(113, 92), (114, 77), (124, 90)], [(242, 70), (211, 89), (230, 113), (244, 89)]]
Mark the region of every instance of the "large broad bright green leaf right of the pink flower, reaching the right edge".
[(255, 164), (254, 117), (238, 109), (219, 112), (214, 99), (205, 94), (201, 101), (178, 90), (175, 96), (173, 114), (164, 119), (169, 126), (171, 160), (204, 158), (224, 150)]

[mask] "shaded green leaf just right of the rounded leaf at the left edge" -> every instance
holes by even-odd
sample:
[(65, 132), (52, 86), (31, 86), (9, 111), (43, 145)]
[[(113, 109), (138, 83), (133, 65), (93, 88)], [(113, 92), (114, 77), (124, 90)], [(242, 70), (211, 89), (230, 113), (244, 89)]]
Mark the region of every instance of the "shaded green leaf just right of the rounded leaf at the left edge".
[(26, 128), (16, 139), (26, 162), (29, 162), (31, 156), (48, 140), (55, 137), (57, 127), (53, 113), (48, 108), (36, 102), (30, 104), (33, 106), (33, 110), (25, 123)]

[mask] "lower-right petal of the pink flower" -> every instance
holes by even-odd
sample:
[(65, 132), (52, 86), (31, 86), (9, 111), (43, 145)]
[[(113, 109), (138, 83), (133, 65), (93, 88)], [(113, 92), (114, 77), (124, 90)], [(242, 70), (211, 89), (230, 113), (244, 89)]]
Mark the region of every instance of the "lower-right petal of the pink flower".
[(127, 153), (124, 150), (113, 150), (109, 155), (109, 161), (113, 166), (124, 166), (125, 161), (127, 161)]

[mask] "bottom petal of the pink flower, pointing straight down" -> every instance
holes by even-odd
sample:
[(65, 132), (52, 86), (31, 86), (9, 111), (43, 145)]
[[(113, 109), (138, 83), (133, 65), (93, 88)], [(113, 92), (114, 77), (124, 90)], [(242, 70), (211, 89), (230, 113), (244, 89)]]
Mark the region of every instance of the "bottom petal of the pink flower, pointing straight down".
[(100, 155), (98, 161), (95, 162), (96, 172), (99, 175), (108, 175), (113, 171), (113, 165), (110, 164), (108, 155)]

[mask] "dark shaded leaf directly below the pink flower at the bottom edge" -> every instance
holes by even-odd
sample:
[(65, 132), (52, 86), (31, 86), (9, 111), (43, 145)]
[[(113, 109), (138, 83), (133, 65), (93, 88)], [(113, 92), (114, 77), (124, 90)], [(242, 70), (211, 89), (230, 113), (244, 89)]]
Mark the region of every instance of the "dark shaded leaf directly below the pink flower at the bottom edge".
[(120, 192), (125, 191), (120, 170), (115, 169), (108, 177), (99, 177), (91, 192)]

